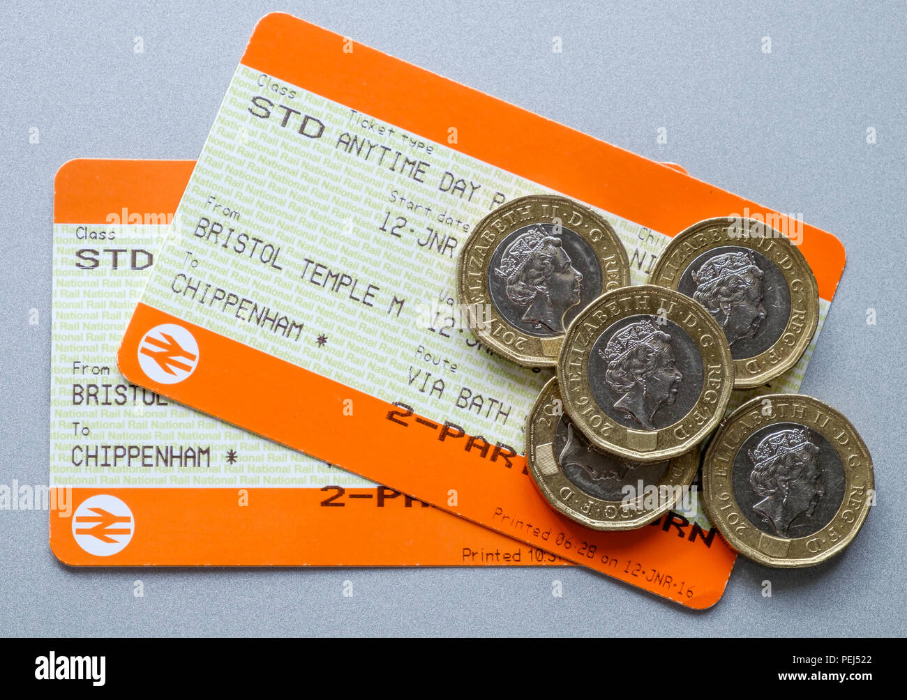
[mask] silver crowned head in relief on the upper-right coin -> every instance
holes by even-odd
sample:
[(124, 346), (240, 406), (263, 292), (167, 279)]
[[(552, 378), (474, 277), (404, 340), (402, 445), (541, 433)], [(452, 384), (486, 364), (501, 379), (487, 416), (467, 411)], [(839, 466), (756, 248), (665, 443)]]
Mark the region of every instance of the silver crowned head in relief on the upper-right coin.
[(708, 258), (692, 273), (693, 298), (715, 318), (734, 345), (753, 338), (766, 318), (765, 273), (750, 251), (732, 251)]

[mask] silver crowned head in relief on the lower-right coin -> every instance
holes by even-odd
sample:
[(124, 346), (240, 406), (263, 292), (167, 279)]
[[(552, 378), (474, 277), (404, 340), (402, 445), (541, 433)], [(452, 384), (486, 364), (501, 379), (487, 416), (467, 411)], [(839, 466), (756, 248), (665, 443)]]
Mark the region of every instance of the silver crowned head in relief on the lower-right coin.
[(752, 508), (778, 537), (791, 537), (791, 523), (803, 515), (812, 518), (824, 496), (819, 452), (805, 428), (769, 433), (748, 451), (749, 485), (762, 498)]

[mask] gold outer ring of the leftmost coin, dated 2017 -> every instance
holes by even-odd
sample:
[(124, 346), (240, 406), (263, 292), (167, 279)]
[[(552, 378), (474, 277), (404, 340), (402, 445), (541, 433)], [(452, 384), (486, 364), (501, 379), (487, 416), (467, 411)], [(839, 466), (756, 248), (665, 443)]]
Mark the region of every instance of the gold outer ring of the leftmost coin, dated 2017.
[[(478, 339), (498, 355), (526, 367), (553, 367), (564, 334), (538, 336), (509, 323), (493, 304), (488, 275), (497, 244), (513, 231), (533, 223), (556, 224), (580, 236), (595, 253), (601, 269), (601, 289), (629, 285), (629, 258), (607, 220), (580, 202), (540, 194), (505, 202), (485, 216), (463, 244), (457, 258), (457, 298), (466, 309), (486, 309), (482, 322), (471, 323)], [(572, 307), (571, 307), (572, 308)]]

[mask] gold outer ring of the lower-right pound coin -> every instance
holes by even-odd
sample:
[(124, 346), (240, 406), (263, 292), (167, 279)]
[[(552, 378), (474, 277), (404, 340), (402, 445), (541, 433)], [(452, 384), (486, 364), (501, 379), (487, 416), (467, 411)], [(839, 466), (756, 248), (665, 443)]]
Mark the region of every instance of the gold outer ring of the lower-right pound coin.
[[(771, 416), (766, 416), (766, 409)], [(841, 457), (841, 505), (824, 528), (806, 537), (776, 537), (760, 530), (737, 502), (733, 487), (737, 452), (750, 435), (773, 422), (805, 425)], [(703, 462), (702, 488), (708, 519), (740, 554), (776, 569), (811, 567), (834, 557), (863, 527), (874, 499), (873, 459), (850, 421), (827, 403), (803, 394), (767, 394), (747, 401), (721, 423)]]

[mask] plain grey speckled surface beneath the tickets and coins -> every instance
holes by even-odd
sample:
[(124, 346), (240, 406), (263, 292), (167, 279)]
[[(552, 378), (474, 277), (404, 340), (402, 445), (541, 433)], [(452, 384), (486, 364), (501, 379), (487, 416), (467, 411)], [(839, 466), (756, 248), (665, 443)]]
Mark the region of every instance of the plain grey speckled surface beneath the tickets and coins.
[(196, 158), (252, 27), (276, 9), (839, 236), (847, 268), (803, 391), (863, 434), (879, 504), (816, 569), (739, 559), (704, 613), (583, 569), (68, 569), (46, 512), (0, 510), (0, 634), (904, 635), (903, 2), (3, 3), (0, 483), (47, 482), (54, 172), (76, 157)]

